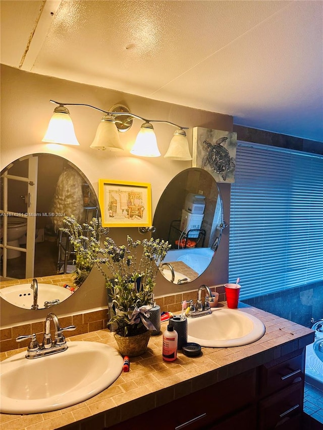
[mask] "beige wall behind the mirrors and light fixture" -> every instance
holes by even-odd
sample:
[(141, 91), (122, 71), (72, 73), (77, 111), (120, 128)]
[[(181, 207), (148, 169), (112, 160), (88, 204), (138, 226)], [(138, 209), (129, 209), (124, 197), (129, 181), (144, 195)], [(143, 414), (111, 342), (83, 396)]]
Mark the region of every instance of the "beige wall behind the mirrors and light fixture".
[[(131, 156), (129, 150), (133, 145), (141, 121), (134, 120), (134, 125), (120, 138), (126, 150), (124, 153), (100, 152), (90, 149), (96, 128), (102, 114), (84, 106), (71, 106), (79, 147), (50, 145), (41, 142), (55, 105), (50, 99), (60, 102), (86, 103), (102, 109), (109, 109), (116, 103), (125, 104), (129, 109), (146, 118), (165, 119), (189, 127), (188, 139), (192, 145), (192, 128), (205, 127), (216, 130), (232, 131), (233, 118), (214, 112), (193, 109), (176, 104), (158, 102), (109, 89), (83, 85), (62, 79), (50, 78), (22, 72), (8, 66), (1, 66), (1, 169), (9, 163), (31, 153), (52, 153), (72, 161), (84, 172), (98, 189), (98, 178), (150, 182), (152, 190), (152, 212), (154, 212), (160, 195), (170, 180), (181, 170), (191, 167), (189, 161), (174, 161), (163, 157), (166, 153), (175, 129), (170, 125), (154, 125), (159, 150), (158, 158), (139, 158)], [(225, 220), (230, 216), (230, 185), (221, 185), (224, 200)], [(124, 243), (127, 234), (135, 239), (142, 238), (136, 228), (115, 228), (111, 236)], [(218, 285), (228, 279), (229, 228), (224, 230), (221, 245), (210, 267), (204, 275), (185, 286), (185, 290), (196, 290), (202, 283)], [(174, 294), (183, 291), (166, 281), (163, 276), (157, 277), (156, 295)], [(1, 299), (2, 300), (2, 299)], [(106, 306), (106, 292), (101, 276), (92, 271), (82, 287), (73, 297), (55, 308), (57, 315), (99, 309)], [(27, 311), (4, 302), (1, 305), (0, 325), (7, 326), (34, 319), (44, 318), (46, 310)]]

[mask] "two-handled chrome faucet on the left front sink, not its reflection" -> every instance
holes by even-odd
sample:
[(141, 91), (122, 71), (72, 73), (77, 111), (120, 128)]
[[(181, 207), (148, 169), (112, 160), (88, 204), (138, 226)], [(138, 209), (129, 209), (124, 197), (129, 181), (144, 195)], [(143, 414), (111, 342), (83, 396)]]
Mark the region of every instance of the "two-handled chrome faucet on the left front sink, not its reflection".
[[(50, 321), (53, 322), (55, 327), (55, 340), (52, 340), (51, 338)], [(49, 313), (45, 320), (45, 334), (41, 345), (39, 345), (35, 333), (27, 336), (18, 336), (16, 338), (16, 341), (21, 342), (25, 339), (31, 339), (27, 349), (26, 358), (43, 357), (44, 355), (51, 355), (56, 354), (57, 352), (65, 351), (68, 346), (63, 331), (70, 331), (75, 329), (75, 326), (68, 326), (62, 329), (57, 316), (53, 313)]]

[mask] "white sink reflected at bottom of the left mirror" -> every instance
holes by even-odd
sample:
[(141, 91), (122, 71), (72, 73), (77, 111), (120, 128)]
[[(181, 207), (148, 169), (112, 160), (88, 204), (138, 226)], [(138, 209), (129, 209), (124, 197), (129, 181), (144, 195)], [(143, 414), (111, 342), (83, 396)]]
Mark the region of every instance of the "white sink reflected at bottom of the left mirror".
[[(43, 284), (38, 282), (38, 300), (39, 308), (44, 308), (45, 301), (59, 299), (60, 302), (70, 297), (71, 290), (60, 287), (55, 284)], [(9, 303), (19, 306), (19, 308), (31, 309), (34, 301), (34, 291), (29, 284), (16, 284), (10, 287), (1, 288), (0, 296)]]

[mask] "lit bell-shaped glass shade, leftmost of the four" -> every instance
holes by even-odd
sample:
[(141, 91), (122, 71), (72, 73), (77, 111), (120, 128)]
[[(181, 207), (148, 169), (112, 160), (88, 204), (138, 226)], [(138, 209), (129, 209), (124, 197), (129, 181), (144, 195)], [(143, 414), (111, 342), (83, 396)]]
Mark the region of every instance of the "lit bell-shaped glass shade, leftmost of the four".
[(54, 109), (42, 142), (79, 145), (70, 112), (65, 106), (58, 106)]

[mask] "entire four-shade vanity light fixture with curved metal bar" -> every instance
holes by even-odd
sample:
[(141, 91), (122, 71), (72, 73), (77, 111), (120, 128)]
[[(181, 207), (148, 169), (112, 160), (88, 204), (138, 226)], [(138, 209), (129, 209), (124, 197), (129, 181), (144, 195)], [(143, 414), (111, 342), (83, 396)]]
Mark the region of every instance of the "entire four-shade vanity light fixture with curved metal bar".
[[(174, 137), (165, 157), (185, 161), (192, 159), (185, 133), (185, 130), (187, 130), (188, 127), (180, 127), (170, 121), (145, 119), (131, 113), (126, 106), (121, 104), (112, 106), (110, 111), (105, 111), (84, 103), (61, 103), (55, 100), (50, 100), (50, 102), (56, 103), (59, 106), (54, 109), (54, 114), (50, 119), (48, 130), (42, 139), (43, 142), (79, 145), (75, 136), (70, 112), (65, 106), (88, 106), (99, 110), (104, 114), (96, 130), (96, 134), (90, 148), (107, 151), (122, 151), (123, 147), (120, 143), (118, 131), (128, 131), (132, 126), (133, 118), (136, 118), (141, 119), (144, 122), (140, 128), (136, 142), (130, 151), (131, 154), (141, 157), (159, 157), (160, 152), (158, 150), (157, 140), (151, 122), (164, 122), (165, 124), (170, 124), (178, 128), (174, 133)], [(67, 124), (67, 122), (69, 123), (68, 132), (66, 131), (67, 128), (62, 128), (63, 124)]]

